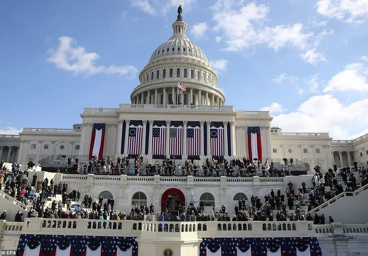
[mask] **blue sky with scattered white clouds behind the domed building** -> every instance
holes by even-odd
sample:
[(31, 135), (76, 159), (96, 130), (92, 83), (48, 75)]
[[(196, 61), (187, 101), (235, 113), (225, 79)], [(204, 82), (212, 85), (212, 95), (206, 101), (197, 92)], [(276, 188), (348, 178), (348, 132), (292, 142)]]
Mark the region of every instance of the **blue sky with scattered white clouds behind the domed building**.
[(368, 132), (367, 0), (66, 0), (0, 2), (0, 134), (130, 102), (178, 4), (227, 105), (283, 131)]

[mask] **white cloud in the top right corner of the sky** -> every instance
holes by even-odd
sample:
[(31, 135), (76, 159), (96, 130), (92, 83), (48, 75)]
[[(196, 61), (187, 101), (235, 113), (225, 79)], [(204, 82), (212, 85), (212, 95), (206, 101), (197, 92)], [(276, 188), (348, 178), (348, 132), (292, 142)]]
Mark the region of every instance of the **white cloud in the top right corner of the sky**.
[(319, 0), (316, 7), (319, 14), (348, 23), (361, 22), (368, 15), (367, 0)]

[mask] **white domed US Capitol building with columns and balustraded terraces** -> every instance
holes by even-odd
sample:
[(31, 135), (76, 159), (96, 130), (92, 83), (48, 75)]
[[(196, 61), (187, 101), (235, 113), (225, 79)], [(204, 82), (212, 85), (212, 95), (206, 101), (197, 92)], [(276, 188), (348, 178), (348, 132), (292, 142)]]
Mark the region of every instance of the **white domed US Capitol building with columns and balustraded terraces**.
[[(352, 166), (355, 160), (359, 166), (365, 166), (368, 160), (368, 134), (354, 140), (342, 141), (333, 140), (328, 133), (318, 131), (284, 133), (281, 128), (272, 127), (272, 117), (268, 111), (235, 110), (232, 105), (226, 104), (225, 94), (217, 87), (217, 74), (209, 64), (204, 51), (186, 36), (187, 24), (183, 21), (181, 13), (172, 24), (172, 28), (173, 35), (153, 51), (148, 63), (139, 73), (139, 85), (131, 92), (130, 103), (120, 104), (117, 108), (84, 108), (80, 114), (82, 122), (73, 125), (72, 129), (25, 127), (19, 135), (0, 135), (0, 159), (4, 159), (7, 163), (17, 162), (22, 165), (33, 161), (36, 165), (40, 165), (37, 169), (38, 179), (49, 177), (49, 180), (54, 179), (56, 184), (60, 181), (66, 182), (68, 191), (81, 190), (81, 198), (85, 193), (93, 197), (112, 197), (115, 200), (114, 209), (127, 213), (135, 203), (147, 205), (152, 203), (157, 212), (173, 198), (179, 198), (182, 206), (188, 206), (190, 201), (196, 201), (196, 205), (199, 201), (208, 202), (211, 205), (211, 208), (206, 208), (206, 211), (210, 211), (208, 213), (216, 213), (224, 205), (231, 213), (239, 199), (250, 202), (251, 196), (254, 195), (263, 201), (263, 197), (269, 194), (271, 189), (273, 191), (280, 189), (284, 192), (290, 181), (294, 183), (294, 188), (300, 187), (304, 181), (308, 188), (313, 189), (311, 174), (314, 174), (313, 167), (316, 165), (321, 167), (323, 173), (334, 163), (338, 167)], [(186, 85), (186, 90), (182, 94), (178, 91), (178, 81)], [(175, 132), (173, 133), (171, 129)], [(276, 166), (289, 169), (291, 172), (302, 170), (304, 175), (168, 177), (43, 172), (46, 167), (43, 169), (42, 163), (60, 164), (68, 157), (88, 161), (92, 155), (104, 156), (106, 159), (107, 156), (117, 159), (141, 155), (144, 163), (162, 162), (161, 159), (166, 155), (175, 158), (176, 163), (193, 159), (198, 165), (202, 165), (206, 158), (218, 160), (225, 158), (229, 161), (245, 157), (250, 158), (251, 162), (252, 159), (258, 159), (262, 164), (266, 160), (268, 163), (273, 161)], [(284, 164), (284, 158), (288, 160), (287, 165)], [(294, 165), (290, 165), (291, 158)], [(142, 170), (141, 174), (145, 174), (145, 171)], [(156, 224), (152, 223), (147, 225), (141, 223), (141, 230), (137, 230), (137, 223), (135, 230), (131, 229), (131, 224), (123, 223), (123, 231), (119, 232), (93, 230), (93, 228), (88, 230), (83, 223), (85, 220), (76, 220), (75, 225), (79, 235), (138, 237), (140, 256), (162, 255), (162, 250), (170, 247), (162, 245), (164, 242), (153, 245), (155, 243), (152, 244), (151, 240), (170, 240), (171, 253), (178, 256), (197, 255), (193, 252), (198, 250), (199, 243), (204, 237), (233, 236), (317, 237), (323, 255), (353, 255), (349, 253), (353, 251), (361, 253), (359, 255), (368, 255), (367, 249), (365, 254), (364, 249), (354, 249), (366, 244), (364, 241), (367, 241), (368, 226), (362, 223), (366, 223), (367, 218), (346, 209), (359, 206), (364, 208), (365, 210), (361, 211), (366, 213), (366, 204), (359, 203), (366, 200), (367, 195), (364, 195), (366, 193), (367, 191), (364, 191), (359, 195), (357, 193), (355, 196), (345, 196), (340, 202), (337, 199), (335, 203), (320, 209), (319, 214), (333, 215), (336, 222), (334, 225), (318, 227), (309, 223), (303, 226), (304, 224), (300, 222), (296, 230), (293, 226), (293, 229), (286, 233), (273, 228), (268, 229), (268, 226), (265, 230), (262, 223), (255, 223), (253, 231), (226, 231), (226, 228), (224, 230), (218, 228), (217, 224), (207, 224), (208, 231), (198, 230), (198, 234), (195, 232), (195, 235), (195, 228), (199, 226), (193, 226), (193, 229), (190, 227), (191, 232), (187, 228), (185, 233), (183, 229), (178, 237), (175, 232), (170, 234), (172, 237), (168, 237), (169, 234), (160, 236), (152, 226)], [(365, 196), (365, 199), (361, 196)], [(171, 200), (170, 207), (174, 209), (178, 202)], [(9, 212), (13, 209), (11, 207), (8, 208)], [(13, 210), (16, 212), (17, 209)], [(3, 235), (7, 242), (4, 242), (5, 245), (0, 242), (0, 249), (11, 249), (10, 244), (14, 239), (7, 235), (17, 235), (21, 232), (25, 234), (57, 232), (61, 235), (75, 235), (74, 230), (68, 228), (47, 229), (48, 226), (42, 226), (39, 220), (26, 221), (24, 226), (23, 223), (6, 225), (4, 224)], [(10, 228), (9, 232), (6, 227)], [(13, 232), (12, 227), (17, 227), (15, 231), (18, 231)], [(18, 227), (21, 227), (22, 231)], [(349, 232), (353, 234), (347, 234)], [(356, 236), (356, 233), (363, 236), (348, 241)], [(186, 247), (182, 244), (183, 241), (187, 243)], [(152, 246), (156, 246), (154, 249), (156, 254), (150, 253)]]

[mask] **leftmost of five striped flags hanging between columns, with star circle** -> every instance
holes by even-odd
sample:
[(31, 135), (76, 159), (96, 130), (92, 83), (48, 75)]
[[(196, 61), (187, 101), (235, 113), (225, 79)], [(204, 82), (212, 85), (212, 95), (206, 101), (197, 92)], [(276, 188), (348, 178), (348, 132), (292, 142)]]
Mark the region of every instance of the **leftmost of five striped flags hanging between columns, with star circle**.
[(131, 120), (128, 131), (128, 155), (140, 155), (142, 148), (143, 121)]

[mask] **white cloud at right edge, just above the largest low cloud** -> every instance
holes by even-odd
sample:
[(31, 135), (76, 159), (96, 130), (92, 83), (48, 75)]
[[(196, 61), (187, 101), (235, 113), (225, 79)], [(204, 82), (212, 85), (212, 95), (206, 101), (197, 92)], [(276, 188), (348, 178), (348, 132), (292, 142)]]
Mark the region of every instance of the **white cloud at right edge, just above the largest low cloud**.
[(323, 92), (329, 91), (368, 91), (368, 68), (362, 63), (347, 65), (328, 82)]

